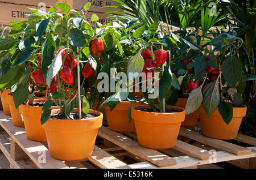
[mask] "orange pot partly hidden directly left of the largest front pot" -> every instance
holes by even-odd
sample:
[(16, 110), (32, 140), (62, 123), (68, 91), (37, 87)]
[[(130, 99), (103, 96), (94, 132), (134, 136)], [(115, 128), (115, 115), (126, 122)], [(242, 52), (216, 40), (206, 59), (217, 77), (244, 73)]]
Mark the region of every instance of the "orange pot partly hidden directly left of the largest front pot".
[[(29, 100), (32, 102), (44, 102), (44, 99), (36, 98), (34, 100)], [(30, 105), (20, 105), (19, 112), (23, 117), (24, 126), (27, 133), (27, 138), (30, 140), (38, 142), (46, 142), (46, 132), (41, 126), (40, 118), (42, 111), (42, 106), (30, 106)]]

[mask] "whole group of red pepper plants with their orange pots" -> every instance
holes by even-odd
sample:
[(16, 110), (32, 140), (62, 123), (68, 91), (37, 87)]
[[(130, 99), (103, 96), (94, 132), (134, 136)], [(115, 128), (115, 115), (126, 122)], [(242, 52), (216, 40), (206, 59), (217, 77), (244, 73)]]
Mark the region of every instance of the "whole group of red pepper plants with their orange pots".
[[(62, 14), (32, 10), (0, 39), (3, 110), (15, 126), (24, 123), (28, 139), (47, 141), (57, 159), (80, 160), (92, 154), (104, 115), (110, 130), (136, 131), (153, 149), (174, 147), (180, 126), (195, 126), (199, 116), (204, 135), (236, 137), (246, 113), (240, 38), (211, 33), (201, 41), (209, 35), (168, 34), (133, 18), (102, 25), (95, 14), (92, 27), (90, 2), (72, 14), (56, 6)], [(234, 98), (229, 88), (238, 89)]]

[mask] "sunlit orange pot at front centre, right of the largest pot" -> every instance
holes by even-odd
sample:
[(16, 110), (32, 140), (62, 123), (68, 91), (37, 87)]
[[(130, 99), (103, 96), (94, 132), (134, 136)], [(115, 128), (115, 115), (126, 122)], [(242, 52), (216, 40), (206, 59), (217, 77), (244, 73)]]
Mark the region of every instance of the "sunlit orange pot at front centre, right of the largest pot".
[(174, 147), (181, 122), (185, 119), (185, 109), (167, 106), (167, 109), (176, 109), (180, 112), (151, 113), (138, 110), (140, 108), (150, 108), (150, 106), (138, 105), (131, 108), (131, 117), (135, 122), (139, 144), (151, 149)]

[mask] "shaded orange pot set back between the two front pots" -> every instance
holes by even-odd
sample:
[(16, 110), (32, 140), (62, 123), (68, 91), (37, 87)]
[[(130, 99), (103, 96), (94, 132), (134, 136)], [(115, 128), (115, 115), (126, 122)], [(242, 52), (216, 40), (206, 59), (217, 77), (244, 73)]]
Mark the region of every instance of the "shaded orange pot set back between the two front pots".
[[(109, 106), (104, 107), (106, 112), (106, 119), (108, 121), (109, 129), (118, 132), (133, 132), (136, 131), (134, 121), (129, 122), (128, 110), (132, 102), (121, 101), (110, 111)], [(142, 105), (143, 102), (134, 102), (134, 105)]]

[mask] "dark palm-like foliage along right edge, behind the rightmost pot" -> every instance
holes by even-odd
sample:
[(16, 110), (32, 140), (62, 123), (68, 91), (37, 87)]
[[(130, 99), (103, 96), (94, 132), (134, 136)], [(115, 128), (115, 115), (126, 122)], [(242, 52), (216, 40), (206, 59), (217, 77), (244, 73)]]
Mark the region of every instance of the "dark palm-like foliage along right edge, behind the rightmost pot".
[(243, 118), (240, 131), (246, 135), (256, 136), (256, 75), (255, 75), (255, 18), (256, 1), (229, 1), (221, 2), (226, 19), (229, 24), (229, 32), (242, 38), (244, 44), (238, 51), (243, 63), (243, 103), (248, 106), (247, 115)]

